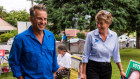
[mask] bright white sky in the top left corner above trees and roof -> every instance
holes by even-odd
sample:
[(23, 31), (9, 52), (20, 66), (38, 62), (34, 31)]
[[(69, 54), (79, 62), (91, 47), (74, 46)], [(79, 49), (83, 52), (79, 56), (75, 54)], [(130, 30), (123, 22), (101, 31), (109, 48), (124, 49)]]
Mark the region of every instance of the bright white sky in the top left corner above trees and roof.
[(10, 12), (12, 10), (24, 10), (29, 13), (29, 9), (31, 7), (31, 1), (27, 0), (0, 0), (0, 6), (3, 6), (3, 8)]

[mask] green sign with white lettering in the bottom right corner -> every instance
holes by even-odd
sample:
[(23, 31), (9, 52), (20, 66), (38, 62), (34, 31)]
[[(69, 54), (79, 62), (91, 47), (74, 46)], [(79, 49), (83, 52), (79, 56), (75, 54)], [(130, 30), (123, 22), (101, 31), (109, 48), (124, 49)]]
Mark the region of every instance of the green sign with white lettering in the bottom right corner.
[(128, 79), (140, 79), (140, 63), (134, 60), (130, 60), (127, 71), (126, 78)]

